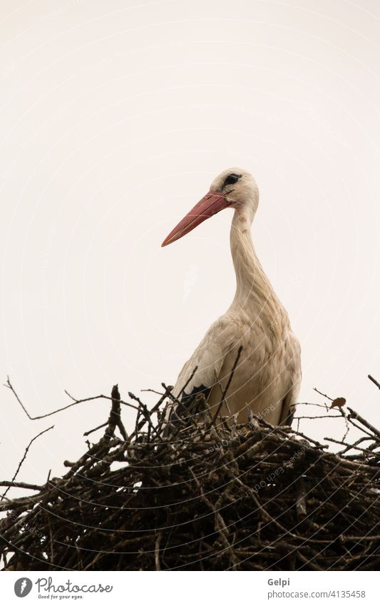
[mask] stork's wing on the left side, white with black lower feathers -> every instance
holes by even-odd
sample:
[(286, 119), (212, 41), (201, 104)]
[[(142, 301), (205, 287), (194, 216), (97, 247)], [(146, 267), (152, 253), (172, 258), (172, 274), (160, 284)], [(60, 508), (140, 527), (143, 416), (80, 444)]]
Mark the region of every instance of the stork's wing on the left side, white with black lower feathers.
[[(197, 393), (204, 393), (207, 398), (217, 383), (225, 356), (232, 346), (232, 335), (231, 318), (222, 315), (210, 326), (191, 358), (183, 365), (172, 393), (183, 402), (184, 408), (186, 399)], [(176, 410), (175, 405), (169, 408), (166, 418), (170, 418), (173, 409)], [(180, 416), (182, 412), (177, 410)]]

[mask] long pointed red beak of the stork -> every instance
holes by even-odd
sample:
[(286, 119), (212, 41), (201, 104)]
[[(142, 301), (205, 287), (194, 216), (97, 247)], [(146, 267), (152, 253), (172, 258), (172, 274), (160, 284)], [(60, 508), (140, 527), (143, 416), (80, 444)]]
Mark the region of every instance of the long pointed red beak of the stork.
[(216, 215), (216, 213), (222, 211), (223, 208), (227, 208), (227, 206), (230, 206), (230, 202), (227, 202), (222, 193), (210, 190), (202, 200), (195, 204), (190, 213), (170, 231), (170, 234), (166, 236), (161, 246), (168, 246), (168, 244), (179, 240), (186, 233), (189, 233), (189, 231), (200, 225), (200, 223), (209, 219), (212, 215)]

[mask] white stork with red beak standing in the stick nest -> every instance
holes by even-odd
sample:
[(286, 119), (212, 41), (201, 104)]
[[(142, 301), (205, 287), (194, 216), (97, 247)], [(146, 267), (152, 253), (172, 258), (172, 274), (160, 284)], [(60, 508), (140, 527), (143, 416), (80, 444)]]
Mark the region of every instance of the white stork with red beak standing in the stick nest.
[(186, 403), (197, 393), (204, 393), (210, 408), (217, 410), (230, 380), (227, 404), (220, 410), (223, 415), (237, 415), (240, 423), (247, 423), (251, 410), (272, 425), (292, 423), (301, 380), (300, 347), (252, 243), (251, 224), (258, 203), (252, 175), (229, 168), (163, 241), (162, 246), (168, 246), (223, 208), (234, 209), (230, 244), (235, 297), (180, 371), (172, 392), (180, 406), (168, 405), (167, 420), (185, 417)]

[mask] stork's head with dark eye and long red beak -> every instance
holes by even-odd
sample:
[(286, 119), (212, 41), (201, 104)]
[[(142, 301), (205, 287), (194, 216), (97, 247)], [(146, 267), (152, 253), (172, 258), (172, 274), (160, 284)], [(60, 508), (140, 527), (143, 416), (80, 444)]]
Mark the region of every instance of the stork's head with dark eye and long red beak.
[(237, 212), (247, 213), (252, 221), (258, 204), (259, 190), (252, 175), (242, 168), (227, 168), (212, 181), (210, 191), (170, 231), (161, 246), (179, 240), (224, 208), (235, 208)]

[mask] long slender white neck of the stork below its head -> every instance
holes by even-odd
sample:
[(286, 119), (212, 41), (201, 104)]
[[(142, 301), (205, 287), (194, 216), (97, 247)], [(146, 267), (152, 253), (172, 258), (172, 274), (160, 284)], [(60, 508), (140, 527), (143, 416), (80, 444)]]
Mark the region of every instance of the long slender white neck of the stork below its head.
[(255, 253), (251, 237), (252, 220), (253, 215), (244, 207), (237, 208), (232, 218), (230, 243), (236, 293), (231, 309), (245, 310), (252, 320), (260, 316), (265, 325), (277, 334), (287, 313)]

